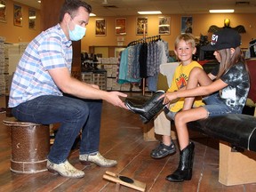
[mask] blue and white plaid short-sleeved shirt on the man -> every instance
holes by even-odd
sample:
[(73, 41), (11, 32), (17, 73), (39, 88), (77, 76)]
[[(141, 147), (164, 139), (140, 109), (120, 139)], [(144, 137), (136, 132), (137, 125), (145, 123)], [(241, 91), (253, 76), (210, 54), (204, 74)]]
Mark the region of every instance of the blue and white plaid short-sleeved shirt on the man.
[(12, 78), (9, 107), (33, 100), (42, 95), (62, 92), (48, 70), (68, 68), (71, 72), (72, 46), (60, 24), (43, 31), (28, 44)]

